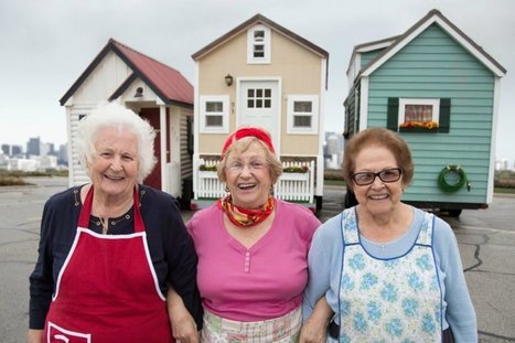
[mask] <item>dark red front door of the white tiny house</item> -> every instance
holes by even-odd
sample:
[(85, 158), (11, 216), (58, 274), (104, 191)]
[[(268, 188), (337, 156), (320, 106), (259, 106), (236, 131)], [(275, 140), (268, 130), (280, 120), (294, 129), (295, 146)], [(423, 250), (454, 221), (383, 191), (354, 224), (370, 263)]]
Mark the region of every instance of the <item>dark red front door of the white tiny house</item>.
[[(159, 108), (141, 108), (139, 112), (140, 117), (147, 119), (150, 125), (155, 129), (155, 139), (153, 142), (154, 147), (154, 154), (158, 159), (155, 167), (153, 168), (152, 172), (143, 180), (143, 184), (149, 185), (151, 187), (161, 190), (161, 125), (159, 120)], [(170, 127), (170, 118), (168, 116), (168, 108), (167, 108), (167, 127)], [(170, 146), (170, 137), (167, 136), (167, 146)], [(170, 153), (167, 149), (167, 161), (170, 162)]]

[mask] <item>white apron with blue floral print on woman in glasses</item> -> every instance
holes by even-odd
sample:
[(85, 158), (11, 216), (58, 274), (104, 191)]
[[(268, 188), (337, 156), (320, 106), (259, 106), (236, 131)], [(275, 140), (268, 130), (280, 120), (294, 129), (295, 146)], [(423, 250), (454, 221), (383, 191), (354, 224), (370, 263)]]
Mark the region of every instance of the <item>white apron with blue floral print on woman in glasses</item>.
[(340, 342), (441, 342), (441, 290), (426, 213), (414, 246), (379, 259), (361, 245), (355, 207), (342, 214)]

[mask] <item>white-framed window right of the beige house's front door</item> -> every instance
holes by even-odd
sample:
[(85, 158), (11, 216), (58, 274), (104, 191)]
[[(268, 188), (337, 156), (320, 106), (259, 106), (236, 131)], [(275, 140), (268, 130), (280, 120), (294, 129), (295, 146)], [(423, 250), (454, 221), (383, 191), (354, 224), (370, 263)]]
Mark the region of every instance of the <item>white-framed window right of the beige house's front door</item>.
[(318, 133), (319, 97), (316, 95), (288, 96), (288, 133)]

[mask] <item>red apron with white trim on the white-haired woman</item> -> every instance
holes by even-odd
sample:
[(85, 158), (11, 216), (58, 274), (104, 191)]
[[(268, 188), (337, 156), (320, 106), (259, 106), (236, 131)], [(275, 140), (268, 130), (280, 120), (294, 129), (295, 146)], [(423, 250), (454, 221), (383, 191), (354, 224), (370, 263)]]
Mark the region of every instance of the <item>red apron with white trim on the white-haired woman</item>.
[(88, 229), (90, 187), (57, 278), (44, 342), (175, 342), (136, 189), (133, 196), (135, 233), (100, 235)]

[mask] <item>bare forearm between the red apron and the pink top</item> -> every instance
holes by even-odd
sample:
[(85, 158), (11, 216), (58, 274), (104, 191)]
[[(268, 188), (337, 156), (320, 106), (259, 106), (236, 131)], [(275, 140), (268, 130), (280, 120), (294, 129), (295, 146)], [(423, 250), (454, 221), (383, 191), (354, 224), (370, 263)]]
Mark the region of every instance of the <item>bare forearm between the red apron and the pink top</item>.
[(181, 296), (171, 287), (168, 290), (167, 307), (173, 337), (181, 343), (199, 343), (195, 320), (184, 306)]

